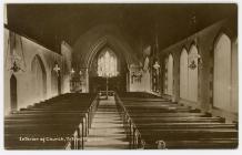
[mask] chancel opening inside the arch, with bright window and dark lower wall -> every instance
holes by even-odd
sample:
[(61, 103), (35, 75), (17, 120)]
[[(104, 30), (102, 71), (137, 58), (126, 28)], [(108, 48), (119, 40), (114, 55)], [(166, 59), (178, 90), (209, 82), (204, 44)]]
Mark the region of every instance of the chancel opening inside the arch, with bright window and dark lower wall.
[[(109, 44), (97, 52), (89, 69), (90, 91), (127, 90), (128, 73), (125, 58)], [(124, 84), (121, 84), (124, 83)]]

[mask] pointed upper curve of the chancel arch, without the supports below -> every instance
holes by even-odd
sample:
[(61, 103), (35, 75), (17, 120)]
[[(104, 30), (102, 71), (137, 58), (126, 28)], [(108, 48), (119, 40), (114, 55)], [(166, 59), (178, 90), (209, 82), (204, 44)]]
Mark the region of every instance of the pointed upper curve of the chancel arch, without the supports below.
[(80, 68), (90, 69), (93, 59), (103, 46), (111, 46), (118, 54), (122, 54), (127, 64), (139, 64), (135, 51), (115, 24), (97, 24), (80, 35), (73, 45), (73, 63), (81, 62)]

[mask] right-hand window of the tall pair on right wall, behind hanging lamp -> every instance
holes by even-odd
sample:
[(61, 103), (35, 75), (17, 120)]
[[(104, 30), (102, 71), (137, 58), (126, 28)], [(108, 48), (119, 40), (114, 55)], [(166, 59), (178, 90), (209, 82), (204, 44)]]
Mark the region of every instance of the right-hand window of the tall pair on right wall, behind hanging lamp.
[(193, 58), (193, 55), (198, 55), (198, 49), (193, 44), (189, 52), (189, 65), (193, 63), (196, 68), (189, 68), (189, 100), (196, 102), (198, 101), (198, 58)]

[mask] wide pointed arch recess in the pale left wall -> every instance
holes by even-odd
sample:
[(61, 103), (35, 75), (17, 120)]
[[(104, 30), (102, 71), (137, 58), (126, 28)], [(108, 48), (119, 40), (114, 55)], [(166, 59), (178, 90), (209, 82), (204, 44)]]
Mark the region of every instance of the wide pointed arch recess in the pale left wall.
[(32, 96), (36, 102), (47, 96), (47, 72), (39, 55), (36, 55), (31, 63)]

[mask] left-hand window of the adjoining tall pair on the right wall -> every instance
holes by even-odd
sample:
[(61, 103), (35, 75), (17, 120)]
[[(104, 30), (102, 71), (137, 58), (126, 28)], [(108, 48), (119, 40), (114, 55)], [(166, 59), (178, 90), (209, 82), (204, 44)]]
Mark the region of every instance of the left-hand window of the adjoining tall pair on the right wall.
[(188, 99), (189, 91), (189, 68), (188, 68), (188, 52), (185, 49), (181, 52), (180, 58), (180, 97)]

